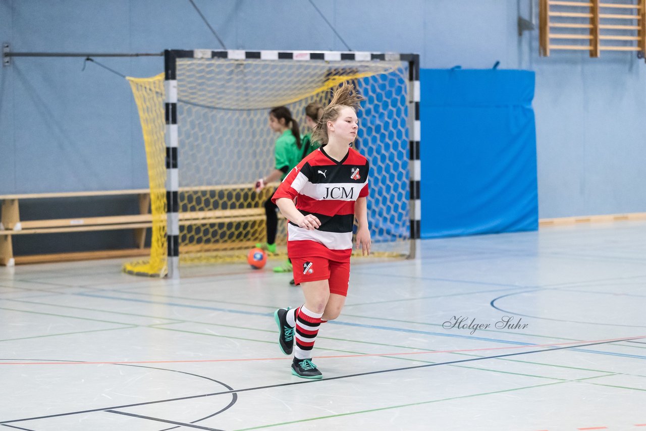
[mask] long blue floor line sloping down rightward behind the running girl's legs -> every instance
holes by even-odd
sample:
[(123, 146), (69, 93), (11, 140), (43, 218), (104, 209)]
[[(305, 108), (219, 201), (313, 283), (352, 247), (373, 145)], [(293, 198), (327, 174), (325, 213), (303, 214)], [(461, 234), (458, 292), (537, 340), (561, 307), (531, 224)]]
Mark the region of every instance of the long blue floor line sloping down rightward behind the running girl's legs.
[[(110, 296), (107, 296), (107, 295), (95, 295), (95, 294), (92, 294), (92, 293), (72, 293), (72, 295), (79, 295), (79, 296), (84, 296), (84, 297), (96, 297), (96, 298), (104, 298), (104, 299), (125, 300), (125, 301), (131, 301), (131, 302), (143, 302), (145, 304), (160, 304), (160, 305), (176, 306), (176, 307), (183, 307), (183, 308), (196, 308), (196, 309), (199, 309), (199, 310), (224, 311), (225, 313), (237, 313), (237, 314), (255, 315), (255, 316), (262, 316), (262, 317), (272, 317), (273, 316), (273, 313), (258, 313), (258, 312), (255, 312), (255, 311), (233, 310), (233, 309), (230, 309), (230, 308), (217, 308), (217, 307), (209, 307), (209, 306), (187, 305), (187, 304), (179, 304), (177, 302), (160, 302), (160, 301), (151, 301), (151, 300), (145, 300), (145, 299), (110, 297)], [(531, 343), (531, 342), (510, 341), (510, 340), (501, 340), (501, 339), (486, 338), (486, 337), (474, 337), (473, 335), (456, 335), (456, 334), (452, 334), (452, 333), (419, 331), (419, 330), (411, 330), (411, 329), (406, 329), (406, 328), (393, 328), (392, 326), (378, 326), (378, 325), (370, 325), (370, 324), (362, 324), (362, 323), (351, 323), (351, 322), (343, 322), (343, 321), (329, 321), (328, 324), (337, 324), (337, 325), (344, 325), (344, 326), (356, 326), (358, 328), (370, 328), (370, 329), (377, 329), (377, 330), (384, 330), (384, 331), (398, 331), (398, 332), (407, 332), (407, 333), (417, 333), (417, 334), (422, 334), (422, 335), (436, 335), (438, 337), (451, 337), (451, 338), (459, 338), (459, 339), (467, 339), (467, 340), (475, 340), (475, 341), (500, 342), (500, 343), (503, 343), (503, 344), (514, 344), (514, 345), (517, 345), (517, 346), (534, 346), (534, 345), (536, 345), (536, 344)], [(646, 359), (645, 356), (627, 355), (625, 353), (599, 352), (599, 351), (596, 351), (596, 350), (577, 350), (577, 349), (574, 349), (574, 348), (572, 348), (571, 350), (576, 351), (576, 352), (598, 353), (598, 354), (601, 354), (601, 355), (632, 357), (632, 358), (635, 358), (635, 359)]]

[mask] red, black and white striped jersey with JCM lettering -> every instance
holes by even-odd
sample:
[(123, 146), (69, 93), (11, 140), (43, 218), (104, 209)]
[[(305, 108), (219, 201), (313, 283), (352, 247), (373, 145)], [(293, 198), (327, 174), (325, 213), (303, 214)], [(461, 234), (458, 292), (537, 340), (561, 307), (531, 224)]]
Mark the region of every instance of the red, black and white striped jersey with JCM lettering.
[(317, 216), (321, 226), (313, 231), (287, 224), (289, 257), (326, 257), (346, 262), (352, 253), (355, 201), (368, 196), (368, 160), (349, 148), (337, 162), (319, 148), (291, 170), (271, 198), (296, 199), (303, 215)]

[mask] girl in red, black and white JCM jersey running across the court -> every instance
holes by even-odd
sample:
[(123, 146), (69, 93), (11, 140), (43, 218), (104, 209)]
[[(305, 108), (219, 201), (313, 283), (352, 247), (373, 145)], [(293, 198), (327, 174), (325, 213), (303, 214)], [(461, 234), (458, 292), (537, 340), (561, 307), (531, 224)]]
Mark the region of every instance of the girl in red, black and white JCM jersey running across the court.
[(355, 218), (357, 248), (370, 254), (366, 210), (370, 166), (349, 147), (357, 138), (361, 100), (352, 85), (334, 92), (312, 133), (312, 140), (322, 147), (292, 169), (272, 198), (289, 220), (287, 254), (305, 296), (305, 304), (297, 309), (274, 313), (278, 342), (286, 355), (294, 352), (292, 373), (306, 379), (322, 377), (311, 361), (320, 323), (336, 319), (346, 302)]

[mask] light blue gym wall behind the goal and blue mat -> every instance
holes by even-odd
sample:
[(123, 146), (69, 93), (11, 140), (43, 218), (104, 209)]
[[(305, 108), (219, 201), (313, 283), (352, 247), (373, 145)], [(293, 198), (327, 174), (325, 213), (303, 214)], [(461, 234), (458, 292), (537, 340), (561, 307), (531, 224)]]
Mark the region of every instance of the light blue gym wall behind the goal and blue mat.
[[(306, 0), (194, 1), (227, 48), (346, 49)], [(534, 70), (541, 218), (646, 211), (646, 65), (634, 53), (539, 58), (537, 30), (517, 36), (530, 0), (314, 1), (353, 50), (419, 52), (422, 68)], [(0, 0), (0, 41), (19, 52), (220, 48), (188, 0)], [(97, 60), (131, 76), (162, 70), (161, 58)], [(0, 68), (0, 194), (147, 185), (127, 82), (82, 68)]]

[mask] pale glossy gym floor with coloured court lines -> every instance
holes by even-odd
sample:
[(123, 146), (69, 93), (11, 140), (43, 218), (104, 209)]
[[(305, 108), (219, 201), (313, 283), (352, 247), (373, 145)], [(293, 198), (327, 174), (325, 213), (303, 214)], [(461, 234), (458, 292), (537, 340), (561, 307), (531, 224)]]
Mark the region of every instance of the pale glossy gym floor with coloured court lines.
[(356, 260), (318, 381), (278, 348), (278, 263), (0, 268), (0, 429), (646, 430), (646, 222)]

